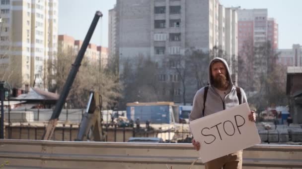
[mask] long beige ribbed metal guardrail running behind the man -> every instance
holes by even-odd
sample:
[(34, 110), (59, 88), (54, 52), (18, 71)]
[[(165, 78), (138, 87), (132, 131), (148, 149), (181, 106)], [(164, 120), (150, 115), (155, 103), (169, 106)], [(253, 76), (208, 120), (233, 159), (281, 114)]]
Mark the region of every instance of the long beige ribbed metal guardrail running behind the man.
[[(0, 164), (12, 169), (188, 169), (198, 153), (186, 143), (0, 140)], [(6, 168), (6, 166), (5, 166)], [(191, 169), (204, 168), (197, 161)], [(243, 169), (302, 168), (300, 145), (256, 145), (244, 150)]]

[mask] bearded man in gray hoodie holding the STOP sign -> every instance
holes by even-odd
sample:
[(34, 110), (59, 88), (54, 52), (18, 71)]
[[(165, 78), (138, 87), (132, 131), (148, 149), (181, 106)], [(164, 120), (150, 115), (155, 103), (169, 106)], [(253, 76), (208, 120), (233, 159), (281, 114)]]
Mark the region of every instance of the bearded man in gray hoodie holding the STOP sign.
[[(194, 96), (189, 121), (247, 102), (244, 90), (232, 83), (225, 59), (217, 57), (210, 62), (208, 78), (209, 85), (199, 89)], [(251, 111), (248, 119), (255, 122), (254, 111)], [(200, 143), (195, 139), (192, 139), (192, 144), (197, 151), (200, 149)], [(242, 169), (242, 150), (209, 161), (205, 163), (205, 167), (206, 169)]]

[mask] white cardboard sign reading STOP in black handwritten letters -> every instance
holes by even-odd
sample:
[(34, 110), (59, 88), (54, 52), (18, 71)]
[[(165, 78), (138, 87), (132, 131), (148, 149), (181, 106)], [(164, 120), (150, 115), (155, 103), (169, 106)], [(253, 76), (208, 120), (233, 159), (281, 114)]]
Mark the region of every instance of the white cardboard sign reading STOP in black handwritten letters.
[(203, 163), (261, 142), (257, 127), (248, 120), (247, 103), (190, 122)]

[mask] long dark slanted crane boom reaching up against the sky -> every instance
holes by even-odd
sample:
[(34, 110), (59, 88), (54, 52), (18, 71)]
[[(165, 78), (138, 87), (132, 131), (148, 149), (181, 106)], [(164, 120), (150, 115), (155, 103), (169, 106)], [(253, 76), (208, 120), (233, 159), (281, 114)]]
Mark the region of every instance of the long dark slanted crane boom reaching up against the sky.
[(50, 118), (50, 120), (47, 124), (47, 127), (45, 128), (45, 131), (44, 131), (44, 134), (43, 134), (43, 137), (42, 137), (43, 140), (49, 140), (52, 137), (53, 133), (54, 133), (54, 130), (55, 130), (56, 125), (57, 125), (58, 120), (59, 120), (59, 116), (60, 116), (62, 108), (63, 108), (63, 105), (64, 105), (64, 103), (66, 101), (66, 98), (68, 96), (68, 93), (69, 93), (69, 91), (70, 91), (70, 89), (71, 89), (71, 87), (72, 87), (72, 85), (75, 81), (75, 76), (76, 76), (76, 74), (78, 72), (78, 69), (80, 67), (80, 63), (81, 63), (81, 61), (84, 57), (85, 51), (86, 51), (87, 46), (90, 42), (92, 34), (95, 30), (97, 22), (98, 22), (99, 18), (102, 17), (102, 16), (103, 16), (103, 14), (100, 11), (95, 12), (94, 18), (93, 18), (92, 23), (89, 27), (89, 30), (86, 34), (84, 42), (83, 42), (80, 50), (78, 51), (78, 54), (75, 58), (75, 62), (72, 65), (72, 69), (71, 69), (71, 71), (68, 75), (68, 78), (67, 78), (67, 80), (64, 84), (63, 90), (60, 94), (59, 100), (56, 103), (56, 107), (53, 111), (53, 114), (52, 114), (52, 116), (51, 116), (51, 118)]

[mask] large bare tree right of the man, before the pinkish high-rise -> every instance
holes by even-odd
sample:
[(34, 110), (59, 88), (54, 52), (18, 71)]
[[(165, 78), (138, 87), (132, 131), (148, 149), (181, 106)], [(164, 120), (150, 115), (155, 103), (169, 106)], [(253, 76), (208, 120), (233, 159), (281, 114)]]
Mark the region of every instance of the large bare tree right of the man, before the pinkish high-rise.
[(245, 59), (239, 60), (239, 82), (246, 86), (251, 105), (262, 111), (271, 105), (286, 105), (286, 68), (277, 63), (278, 55), (270, 42), (246, 45)]

